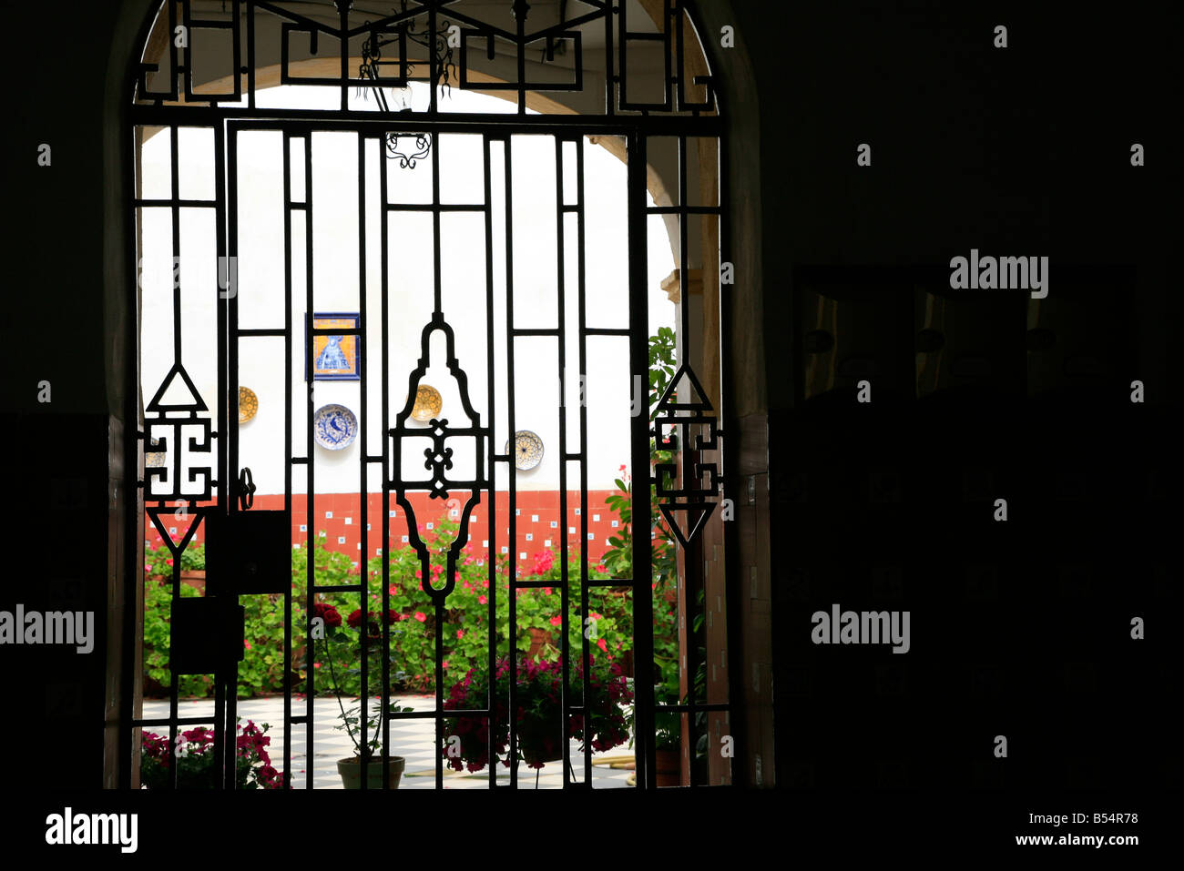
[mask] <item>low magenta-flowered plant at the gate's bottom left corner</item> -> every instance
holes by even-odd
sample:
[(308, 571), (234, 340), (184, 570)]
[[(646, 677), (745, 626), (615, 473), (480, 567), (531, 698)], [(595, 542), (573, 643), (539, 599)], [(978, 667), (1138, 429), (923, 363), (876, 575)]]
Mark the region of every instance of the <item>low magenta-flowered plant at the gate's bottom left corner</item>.
[[(242, 717), (239, 717), (242, 720)], [(253, 721), (238, 725), (236, 740), (234, 785), (238, 789), (282, 789), (284, 776), (271, 764), (268, 755), (266, 723), (257, 727)], [(143, 789), (167, 789), (174, 754), (169, 753), (168, 737), (144, 731), (141, 736), (140, 782)], [(218, 772), (214, 767), (214, 733), (204, 725), (176, 736), (176, 788), (215, 789)]]

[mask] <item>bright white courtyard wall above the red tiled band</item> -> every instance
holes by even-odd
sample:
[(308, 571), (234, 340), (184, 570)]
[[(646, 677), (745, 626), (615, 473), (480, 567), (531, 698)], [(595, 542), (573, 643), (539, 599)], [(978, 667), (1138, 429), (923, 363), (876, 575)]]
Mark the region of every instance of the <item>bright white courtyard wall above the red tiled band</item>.
[[(311, 89), (274, 89), (277, 99), (307, 105)], [(287, 91), (289, 93), (278, 93)], [(302, 93), (302, 91), (305, 91)], [(417, 99), (423, 101), (420, 90)], [(452, 92), (453, 101), (471, 103), (464, 111), (504, 111), (513, 107), (483, 95)], [(180, 182), (182, 198), (213, 198), (213, 135), (208, 130), (182, 130)], [(314, 408), (330, 402), (345, 405), (358, 415), (367, 432), (367, 453), (381, 453), (380, 379), (381, 364), (381, 264), (380, 211), (378, 189), (378, 143), (371, 143), (365, 161), (372, 180), (366, 209), (366, 283), (368, 307), (367, 367), (368, 414), (361, 417), (361, 391), (356, 381), (314, 382)], [(628, 220), (625, 211), (625, 166), (598, 146), (583, 142), (585, 150), (586, 198), (586, 309), (587, 324), (623, 328), (628, 317)], [(167, 195), (168, 134), (149, 138), (143, 149), (143, 195)], [(437, 143), (442, 150), (440, 198), (445, 204), (481, 202), (482, 148), (480, 136), (448, 136)], [(494, 297), (504, 297), (504, 189), (501, 146), (494, 144)], [(302, 144), (294, 143), (294, 167), (302, 168)], [(574, 169), (574, 144), (567, 147), (565, 163)], [(277, 131), (251, 131), (238, 140), (238, 303), (240, 328), (282, 328), (284, 299), (284, 238), (282, 138)], [(300, 170), (302, 172), (302, 170)], [(303, 196), (303, 179), (294, 173), (294, 199)], [(414, 169), (400, 169), (388, 162), (388, 189), (392, 202), (430, 202), (430, 161)], [(313, 284), (315, 311), (358, 311), (359, 305), (359, 214), (358, 140), (353, 134), (324, 133), (313, 137)], [(514, 198), (514, 295), (515, 325), (554, 328), (556, 310), (555, 154), (549, 137), (515, 137), (513, 141)], [(574, 175), (565, 187), (573, 192)], [(566, 195), (574, 202), (574, 194)], [(144, 209), (142, 221), (142, 380), (147, 402), (172, 364), (172, 272), (170, 219), (167, 209)], [(420, 334), (432, 310), (432, 225), (429, 213), (393, 213), (390, 218), (390, 370), (388, 401), (391, 421), (401, 409), (407, 393), (407, 375), (416, 367)], [(469, 375), (472, 405), (488, 415), (487, 387), (487, 305), (484, 219), (481, 213), (442, 215), (443, 310), (456, 330), (456, 355)], [(659, 282), (674, 269), (670, 243), (661, 220), (651, 220), (649, 276), (651, 329), (674, 325), (675, 307), (659, 289)], [(578, 346), (575, 321), (575, 217), (566, 219), (567, 328), (568, 342), (568, 450), (579, 449)], [(181, 296), (184, 362), (199, 392), (213, 408), (217, 392), (215, 227), (213, 209), (184, 209), (181, 218)], [(303, 317), (305, 310), (304, 217), (294, 214), (292, 224), (292, 307), (294, 342), (294, 454), (304, 449), (305, 385)], [(495, 304), (495, 411), (496, 450), (508, 437), (504, 376), (506, 312)], [(463, 425), (464, 414), (457, 386), (444, 366), (443, 341), (433, 347), (432, 368), (424, 378), (444, 396), (443, 417)], [(542, 463), (529, 472), (519, 472), (522, 490), (549, 490), (559, 484), (559, 381), (556, 341), (553, 337), (519, 338), (515, 342), (515, 427), (538, 433), (546, 452)], [(253, 420), (239, 430), (239, 465), (249, 465), (260, 493), (283, 492), (284, 480), (284, 366), (283, 338), (247, 337), (240, 342), (240, 383), (259, 398)], [(622, 463), (629, 462), (628, 348), (624, 337), (588, 340), (585, 395), (588, 404), (588, 486), (610, 489)], [(484, 418), (485, 420), (488, 418)], [(412, 426), (416, 424), (412, 422)], [(429, 443), (418, 445), (419, 450)], [(471, 475), (471, 463), (459, 460), (471, 444), (450, 443), (457, 451), (455, 477)], [(412, 445), (408, 445), (411, 447)], [(361, 489), (361, 439), (341, 451), (314, 445), (317, 492), (356, 492)], [(429, 477), (423, 462), (405, 464), (407, 477)], [(570, 475), (575, 475), (571, 466)], [(506, 467), (498, 469), (506, 485)], [(369, 489), (380, 486), (379, 472), (372, 469)], [(294, 492), (304, 492), (303, 467), (294, 470)]]

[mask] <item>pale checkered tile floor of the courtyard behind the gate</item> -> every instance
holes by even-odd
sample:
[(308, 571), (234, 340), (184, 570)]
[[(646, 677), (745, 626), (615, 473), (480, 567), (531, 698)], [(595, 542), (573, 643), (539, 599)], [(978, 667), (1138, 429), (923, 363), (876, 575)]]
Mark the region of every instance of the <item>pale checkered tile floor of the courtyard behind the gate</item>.
[[(350, 707), (348, 699), (343, 699), (346, 709)], [(432, 696), (400, 696), (400, 704), (414, 710), (432, 710), (435, 697)], [(356, 701), (353, 702), (356, 704)], [(292, 698), (292, 716), (304, 714), (307, 702), (303, 698)], [(178, 714), (181, 717), (211, 717), (211, 725), (214, 703), (212, 699), (182, 701), (179, 704)], [(291, 785), (295, 789), (308, 788), (308, 770), (313, 769), (314, 789), (341, 789), (341, 776), (337, 774), (337, 760), (354, 755), (353, 744), (349, 736), (340, 729), (335, 729), (341, 721), (337, 720), (340, 709), (335, 698), (317, 698), (315, 702), (314, 731), (313, 731), (313, 759), (311, 764), (308, 757), (307, 725), (296, 723), (292, 725), (291, 735)], [(269, 723), (271, 728), (268, 735), (271, 737), (269, 753), (271, 763), (277, 769), (284, 767), (284, 701), (278, 698), (251, 698), (238, 702), (238, 715), (242, 723), (253, 720), (256, 724)], [(143, 716), (167, 717), (167, 701), (144, 701)], [(184, 727), (192, 729), (192, 725)], [(436, 788), (436, 724), (433, 720), (401, 720), (391, 722), (391, 747), (394, 754), (406, 759), (403, 780), (399, 782), (400, 789), (435, 789)], [(146, 727), (147, 731), (166, 734), (167, 727)], [(593, 788), (628, 787), (626, 782), (632, 775), (632, 766), (628, 768), (610, 768), (607, 764), (597, 764), (597, 760), (609, 760), (613, 757), (630, 756), (632, 751), (628, 744), (623, 744), (607, 753), (592, 754), (592, 786)], [(572, 741), (572, 767), (574, 780), (584, 780), (584, 754), (579, 750), (579, 742)], [(562, 787), (562, 763), (552, 762), (543, 766), (539, 774), (538, 785), (540, 789), (556, 789)], [(498, 766), (498, 781), (509, 782), (509, 769)], [(535, 783), (535, 769), (527, 768), (526, 763), (519, 766), (519, 787), (533, 788)], [(445, 789), (487, 789), (489, 787), (489, 770), (477, 774), (468, 772), (452, 772), (444, 768)]]

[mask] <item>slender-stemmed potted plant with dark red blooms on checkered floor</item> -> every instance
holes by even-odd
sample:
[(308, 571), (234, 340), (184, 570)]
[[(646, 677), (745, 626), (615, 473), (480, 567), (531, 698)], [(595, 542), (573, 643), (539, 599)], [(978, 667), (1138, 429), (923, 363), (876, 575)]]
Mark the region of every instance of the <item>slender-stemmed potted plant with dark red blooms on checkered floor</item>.
[[(381, 615), (369, 611), (363, 619), (359, 608), (346, 619), (346, 625), (358, 631), (359, 634), (356, 637), (342, 627), (341, 614), (332, 605), (315, 604), (313, 606), (313, 617), (324, 621), (324, 638), (317, 639), (314, 644), (321, 647), (322, 657), (329, 666), (333, 693), (337, 699), (337, 708), (341, 711), (337, 715), (341, 724), (335, 728), (345, 730), (354, 746), (353, 756), (337, 760), (337, 774), (341, 775), (341, 785), (346, 789), (360, 789), (362, 772), (365, 770), (366, 788), (381, 789), (385, 759), (388, 760), (386, 766), (388, 772), (386, 786), (390, 789), (398, 789), (406, 760), (403, 756), (387, 756), (382, 753), (382, 725), (390, 720), (391, 715), (403, 714), (412, 709), (401, 707), (398, 701), (392, 701), (390, 705), (384, 708), (381, 704), (372, 704), (372, 699), (369, 698), (359, 699), (358, 704), (347, 709), (342, 701), (343, 692), (337, 680), (337, 666), (334, 660), (337, 657), (341, 657), (343, 662), (353, 660), (353, 656), (359, 646), (360, 633), (365, 628), (368, 641), (367, 656), (372, 663), (371, 672), (374, 675), (381, 673), (379, 669), (381, 667), (382, 657), (382, 634), (379, 624), (381, 620), (381, 622), (390, 626), (393, 622), (398, 622), (400, 615), (393, 611), (388, 611)], [(399, 631), (394, 630), (393, 632), (398, 634)], [(393, 660), (393, 657), (391, 659)], [(360, 669), (350, 667), (346, 671), (352, 673), (360, 671)], [(363, 716), (366, 717), (365, 743), (361, 737), (361, 718)]]

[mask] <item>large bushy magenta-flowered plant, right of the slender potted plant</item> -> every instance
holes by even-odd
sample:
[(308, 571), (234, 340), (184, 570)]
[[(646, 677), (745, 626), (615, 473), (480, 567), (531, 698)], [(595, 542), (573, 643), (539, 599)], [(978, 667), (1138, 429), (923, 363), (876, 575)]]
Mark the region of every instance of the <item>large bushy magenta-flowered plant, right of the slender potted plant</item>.
[[(580, 751), (588, 743), (594, 750), (611, 750), (629, 738), (623, 705), (630, 703), (633, 695), (629, 690), (619, 665), (598, 666), (594, 657), (590, 662), (592, 665), (590, 673), (591, 697), (587, 708), (593, 711), (591, 728), (585, 729), (581, 715), (573, 715), (566, 736), (580, 742)], [(583, 664), (577, 663), (571, 676), (573, 704), (581, 704), (583, 679)], [(519, 667), (515, 693), (517, 710), (514, 717), (517, 759), (536, 772), (548, 762), (555, 762), (564, 756), (561, 683), (562, 663), (560, 660), (528, 660)], [(449, 767), (458, 772), (464, 768), (470, 772), (480, 772), (490, 763), (493, 756), (498, 756), (502, 757), (502, 764), (509, 768), (509, 685), (510, 660), (502, 658), (494, 676), (496, 728), (493, 735), (493, 747), (490, 747), (488, 717), (451, 717), (444, 721), (446, 741), (443, 753), (448, 759)], [(452, 686), (444, 702), (444, 708), (483, 707), (488, 690), (487, 677), (477, 673), (475, 669), (470, 670), (463, 680)], [(538, 786), (538, 773), (535, 774), (535, 786)]]

